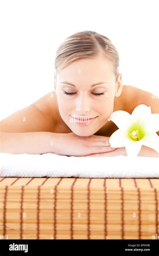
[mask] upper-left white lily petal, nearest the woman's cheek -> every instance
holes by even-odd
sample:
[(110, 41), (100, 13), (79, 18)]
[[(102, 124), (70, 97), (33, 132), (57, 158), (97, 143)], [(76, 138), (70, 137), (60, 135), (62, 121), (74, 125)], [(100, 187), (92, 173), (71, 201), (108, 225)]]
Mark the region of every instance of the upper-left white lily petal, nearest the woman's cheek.
[(131, 122), (131, 115), (126, 111), (117, 110), (110, 115), (109, 119), (114, 122), (122, 132), (125, 132), (127, 125)]

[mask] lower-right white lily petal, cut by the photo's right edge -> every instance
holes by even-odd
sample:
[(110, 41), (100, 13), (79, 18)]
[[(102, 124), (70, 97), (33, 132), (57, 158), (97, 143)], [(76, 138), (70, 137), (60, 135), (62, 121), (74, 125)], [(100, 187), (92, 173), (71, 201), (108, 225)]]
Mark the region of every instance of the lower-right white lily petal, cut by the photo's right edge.
[(154, 133), (150, 136), (146, 136), (143, 141), (143, 145), (152, 148), (159, 153), (159, 136)]

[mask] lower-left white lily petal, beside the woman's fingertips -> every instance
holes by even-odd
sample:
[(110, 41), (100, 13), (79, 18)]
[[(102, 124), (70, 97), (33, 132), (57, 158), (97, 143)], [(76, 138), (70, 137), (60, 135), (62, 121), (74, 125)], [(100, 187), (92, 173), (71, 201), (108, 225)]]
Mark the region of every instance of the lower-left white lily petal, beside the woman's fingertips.
[(125, 147), (124, 133), (118, 129), (109, 138), (110, 147), (122, 148)]

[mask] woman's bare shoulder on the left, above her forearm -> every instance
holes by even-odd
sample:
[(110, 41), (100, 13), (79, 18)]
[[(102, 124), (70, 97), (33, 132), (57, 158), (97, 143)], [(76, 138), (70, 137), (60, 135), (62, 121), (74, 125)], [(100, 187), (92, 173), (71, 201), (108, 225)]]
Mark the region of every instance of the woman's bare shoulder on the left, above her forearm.
[(0, 120), (0, 132), (54, 132), (58, 119), (54, 92), (50, 92)]

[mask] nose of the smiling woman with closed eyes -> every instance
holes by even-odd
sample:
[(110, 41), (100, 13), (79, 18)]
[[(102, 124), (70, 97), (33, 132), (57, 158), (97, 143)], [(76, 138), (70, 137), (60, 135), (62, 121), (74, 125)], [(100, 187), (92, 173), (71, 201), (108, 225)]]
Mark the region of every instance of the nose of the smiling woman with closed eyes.
[(91, 105), (89, 102), (89, 99), (84, 96), (84, 95), (80, 95), (77, 99), (76, 99), (76, 113), (79, 113), (81, 115), (84, 115), (87, 112), (90, 112), (91, 110)]

